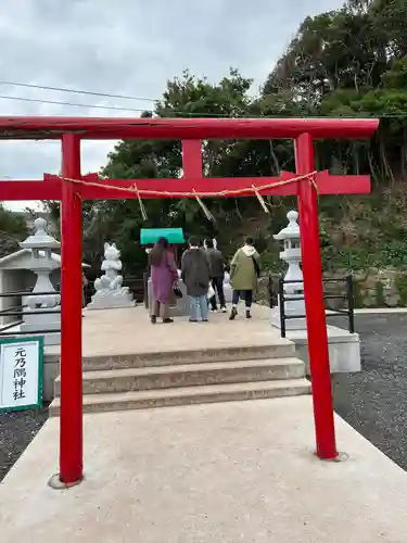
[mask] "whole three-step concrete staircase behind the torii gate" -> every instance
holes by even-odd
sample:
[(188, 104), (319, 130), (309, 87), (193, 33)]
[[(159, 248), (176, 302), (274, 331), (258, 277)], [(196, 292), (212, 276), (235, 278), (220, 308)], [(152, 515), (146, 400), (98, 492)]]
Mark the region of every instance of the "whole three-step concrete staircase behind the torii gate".
[[(295, 345), (170, 351), (84, 358), (84, 412), (307, 394)], [(60, 414), (60, 378), (50, 415)]]

